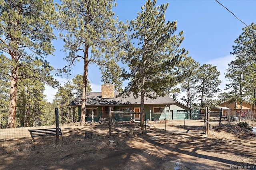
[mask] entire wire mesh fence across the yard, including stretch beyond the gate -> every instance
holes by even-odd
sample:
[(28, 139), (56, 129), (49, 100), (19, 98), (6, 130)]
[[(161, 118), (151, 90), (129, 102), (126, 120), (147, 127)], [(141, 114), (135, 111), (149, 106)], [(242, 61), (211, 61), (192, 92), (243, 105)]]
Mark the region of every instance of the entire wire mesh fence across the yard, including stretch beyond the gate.
[[(140, 126), (140, 119), (142, 113), (140, 112), (127, 112), (127, 111), (104, 111), (104, 120), (100, 120), (102, 113), (88, 114), (86, 117), (85, 125), (80, 125), (78, 117), (76, 121), (70, 123), (60, 123), (59, 127), (62, 130), (62, 137), (64, 140), (74, 140), (76, 138), (84, 138), (86, 132), (93, 132), (94, 135), (110, 135), (110, 127), (112, 134), (118, 133), (140, 133), (142, 128)], [(111, 115), (111, 119), (109, 119)], [(228, 123), (230, 115), (230, 122), (236, 123), (240, 121), (253, 120), (255, 117), (254, 112), (250, 111), (230, 111), (223, 112), (221, 123)], [(210, 117), (210, 124), (219, 124), (218, 115)], [(109, 121), (110, 120), (110, 121)], [(145, 132), (188, 132), (188, 133), (205, 133), (206, 130), (206, 117), (204, 114), (191, 114), (191, 113), (145, 113)], [(52, 121), (54, 122), (54, 121)], [(111, 126), (109, 126), (111, 123)], [(55, 128), (54, 123), (49, 125), (43, 121), (34, 123), (34, 127), (18, 127), (18, 128), (0, 128), (0, 144), (10, 144), (13, 142), (31, 143), (32, 138), (30, 129), (42, 128)], [(46, 137), (36, 137), (36, 142), (44, 140)], [(47, 140), (56, 140), (54, 136), (49, 136)]]

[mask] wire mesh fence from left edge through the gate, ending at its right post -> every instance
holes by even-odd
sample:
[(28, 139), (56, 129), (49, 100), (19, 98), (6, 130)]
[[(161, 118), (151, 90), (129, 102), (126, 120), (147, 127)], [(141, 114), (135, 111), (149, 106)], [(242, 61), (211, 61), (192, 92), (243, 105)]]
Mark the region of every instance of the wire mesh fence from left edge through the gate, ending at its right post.
[[(112, 121), (91, 121), (87, 119), (85, 125), (80, 125), (80, 122), (62, 123), (59, 125), (62, 131), (63, 140), (74, 140), (76, 138), (85, 138), (86, 132), (93, 132), (94, 135), (110, 135), (110, 127), (112, 134), (118, 133), (140, 133), (142, 128), (139, 119), (134, 118), (134, 114), (141, 117), (141, 113), (135, 112), (117, 112), (111, 113)], [(157, 131), (176, 131), (176, 132), (205, 132), (205, 117), (204, 114), (189, 114), (189, 113), (151, 113), (155, 117), (155, 121), (149, 121), (148, 113), (145, 115), (146, 132)], [(157, 119), (156, 119), (157, 118)], [(99, 119), (97, 119), (99, 120)], [(111, 124), (111, 126), (109, 126)], [(29, 130), (31, 129), (47, 129), (55, 128), (55, 125), (44, 125), (43, 122), (36, 123), (34, 127), (19, 127), (19, 128), (2, 128), (0, 129), (0, 143), (10, 144), (12, 142), (31, 143), (32, 138)], [(35, 137), (36, 142), (44, 139), (56, 140), (54, 136)]]

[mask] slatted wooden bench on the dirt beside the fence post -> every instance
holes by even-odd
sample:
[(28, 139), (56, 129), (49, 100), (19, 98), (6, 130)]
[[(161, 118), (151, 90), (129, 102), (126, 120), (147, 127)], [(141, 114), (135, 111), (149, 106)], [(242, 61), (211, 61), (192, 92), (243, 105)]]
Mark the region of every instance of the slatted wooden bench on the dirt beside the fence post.
[[(30, 132), (32, 142), (35, 142), (34, 137), (37, 137), (37, 136), (56, 136), (56, 128), (31, 129), (28, 131)], [(62, 132), (60, 128), (59, 128), (59, 135), (61, 135), (61, 138), (62, 138)]]

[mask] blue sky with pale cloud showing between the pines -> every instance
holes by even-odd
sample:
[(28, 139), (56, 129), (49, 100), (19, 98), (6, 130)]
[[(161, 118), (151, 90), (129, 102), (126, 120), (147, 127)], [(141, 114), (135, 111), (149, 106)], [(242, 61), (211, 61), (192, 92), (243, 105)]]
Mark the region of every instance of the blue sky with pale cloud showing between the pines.
[[(245, 24), (249, 25), (256, 22), (255, 0), (218, 0), (222, 5), (228, 8)], [(133, 20), (137, 16), (137, 12), (141, 11), (141, 6), (146, 0), (116, 0), (117, 7), (113, 11), (118, 15), (119, 20)], [(184, 31), (184, 41), (181, 47), (189, 51), (188, 56), (200, 64), (216, 65), (218, 71), (221, 72), (220, 80), (222, 83), (220, 89), (225, 89), (226, 79), (224, 73), (228, 68), (228, 63), (234, 60), (234, 56), (230, 55), (234, 40), (242, 34), (242, 28), (245, 25), (240, 22), (223, 6), (215, 0), (157, 0), (157, 5), (169, 3), (166, 11), (166, 21), (177, 20), (178, 34)], [(58, 35), (58, 32), (55, 32)], [(66, 62), (63, 60), (65, 53), (61, 52), (62, 40), (53, 42), (56, 51), (54, 56), (47, 58), (48, 62), (55, 68), (62, 68)], [(73, 67), (73, 78), (76, 74), (83, 73), (83, 62), (77, 62)], [(66, 77), (56, 77), (63, 85)], [(92, 86), (93, 92), (101, 90), (101, 74), (96, 65), (90, 65), (88, 70), (88, 79)], [(126, 83), (124, 83), (126, 85)], [(52, 101), (56, 89), (46, 87), (45, 94), (47, 101)]]

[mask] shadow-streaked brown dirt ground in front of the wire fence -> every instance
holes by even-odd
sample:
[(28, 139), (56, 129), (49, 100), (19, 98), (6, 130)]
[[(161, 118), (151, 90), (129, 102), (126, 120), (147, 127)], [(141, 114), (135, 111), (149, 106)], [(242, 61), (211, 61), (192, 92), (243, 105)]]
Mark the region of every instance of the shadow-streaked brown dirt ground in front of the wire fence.
[(235, 124), (214, 126), (208, 136), (149, 132), (90, 139), (81, 135), (64, 138), (60, 144), (50, 138), (0, 147), (1, 170), (256, 170), (256, 134)]

